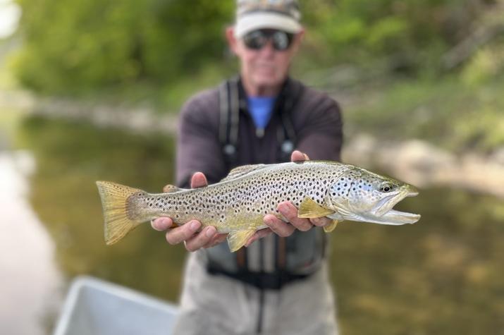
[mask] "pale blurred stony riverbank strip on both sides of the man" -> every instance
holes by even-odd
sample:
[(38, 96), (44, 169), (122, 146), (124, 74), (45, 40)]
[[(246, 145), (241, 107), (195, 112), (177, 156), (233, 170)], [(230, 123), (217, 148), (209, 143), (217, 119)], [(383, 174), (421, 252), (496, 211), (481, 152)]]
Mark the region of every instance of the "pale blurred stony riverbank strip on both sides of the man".
[[(111, 106), (69, 99), (39, 98), (26, 91), (0, 92), (0, 106), (27, 115), (86, 121), (133, 133), (176, 134), (177, 116), (149, 106)], [(372, 135), (347, 135), (343, 162), (373, 167), (422, 187), (446, 185), (504, 198), (504, 147), (491, 154), (455, 154), (425, 140), (391, 141)]]

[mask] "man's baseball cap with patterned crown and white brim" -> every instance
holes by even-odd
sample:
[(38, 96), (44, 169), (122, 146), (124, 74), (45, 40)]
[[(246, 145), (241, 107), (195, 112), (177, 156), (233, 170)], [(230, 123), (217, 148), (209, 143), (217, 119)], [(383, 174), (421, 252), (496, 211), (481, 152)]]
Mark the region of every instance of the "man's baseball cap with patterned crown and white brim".
[(237, 0), (235, 37), (258, 29), (302, 30), (297, 0)]

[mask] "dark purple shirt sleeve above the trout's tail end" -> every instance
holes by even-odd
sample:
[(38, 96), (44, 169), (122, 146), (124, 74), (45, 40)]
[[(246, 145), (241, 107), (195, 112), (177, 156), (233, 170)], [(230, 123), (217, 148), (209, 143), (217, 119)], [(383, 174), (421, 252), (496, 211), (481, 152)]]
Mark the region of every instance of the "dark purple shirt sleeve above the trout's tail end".
[(179, 187), (189, 188), (190, 178), (202, 172), (209, 183), (216, 183), (226, 173), (218, 126), (211, 119), (209, 106), (203, 108), (197, 99), (190, 100), (180, 113), (177, 140), (176, 181)]

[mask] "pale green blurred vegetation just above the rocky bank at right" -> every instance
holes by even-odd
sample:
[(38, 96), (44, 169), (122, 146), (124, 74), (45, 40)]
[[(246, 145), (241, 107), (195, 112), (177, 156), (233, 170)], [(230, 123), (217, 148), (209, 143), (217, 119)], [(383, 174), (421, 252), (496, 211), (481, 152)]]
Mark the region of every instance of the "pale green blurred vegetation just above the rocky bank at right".
[(457, 153), (488, 153), (504, 145), (503, 90), (503, 75), (492, 75), (476, 87), (455, 75), (435, 84), (395, 80), (368, 92), (345, 113), (346, 130), (382, 139), (419, 138)]

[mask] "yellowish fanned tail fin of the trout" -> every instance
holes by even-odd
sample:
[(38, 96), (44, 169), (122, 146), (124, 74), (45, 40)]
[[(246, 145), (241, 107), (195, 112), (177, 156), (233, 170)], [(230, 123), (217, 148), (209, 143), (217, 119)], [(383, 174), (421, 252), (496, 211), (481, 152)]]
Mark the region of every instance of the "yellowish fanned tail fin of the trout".
[(105, 220), (105, 243), (111, 245), (142, 223), (143, 220), (131, 219), (128, 215), (132, 209), (128, 200), (143, 191), (109, 181), (97, 181), (97, 186)]

